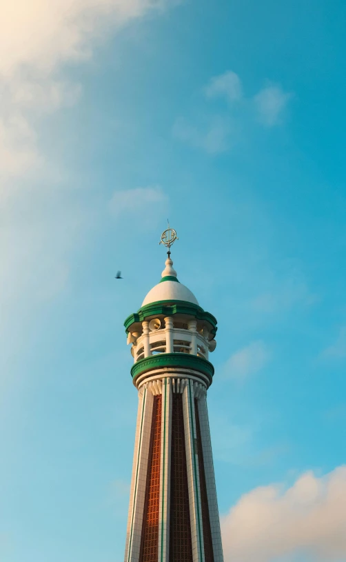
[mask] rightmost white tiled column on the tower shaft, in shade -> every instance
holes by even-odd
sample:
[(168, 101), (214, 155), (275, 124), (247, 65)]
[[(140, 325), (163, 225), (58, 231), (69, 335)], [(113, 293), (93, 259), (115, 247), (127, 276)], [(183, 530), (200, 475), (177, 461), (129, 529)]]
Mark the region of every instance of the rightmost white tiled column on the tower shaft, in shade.
[(209, 516), (210, 516), (210, 528), (212, 531), (214, 562), (223, 562), (220, 518), (218, 515), (214, 464), (212, 458), (212, 442), (210, 439), (210, 428), (209, 428), (207, 399), (206, 399), (205, 390), (200, 394), (199, 397), (199, 423), (201, 426), (201, 441), (202, 441), (202, 449), (203, 449), (205, 483), (207, 486), (207, 500), (208, 500)]

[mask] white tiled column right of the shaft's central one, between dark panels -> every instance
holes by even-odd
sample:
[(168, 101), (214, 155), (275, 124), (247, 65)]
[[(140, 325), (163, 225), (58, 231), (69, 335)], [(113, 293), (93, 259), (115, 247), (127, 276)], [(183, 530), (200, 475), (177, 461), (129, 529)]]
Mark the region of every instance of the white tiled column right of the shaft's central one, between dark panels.
[(194, 383), (190, 379), (183, 390), (183, 414), (187, 484), (189, 488), (192, 559), (205, 562), (201, 490), (199, 486), (199, 459), (197, 455), (196, 417), (194, 414)]

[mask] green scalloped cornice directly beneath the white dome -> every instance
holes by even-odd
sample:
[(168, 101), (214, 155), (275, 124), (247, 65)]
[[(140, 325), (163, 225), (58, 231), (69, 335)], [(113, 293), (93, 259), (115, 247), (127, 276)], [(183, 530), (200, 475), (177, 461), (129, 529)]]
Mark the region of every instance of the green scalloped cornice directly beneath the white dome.
[(146, 318), (159, 316), (159, 314), (163, 314), (163, 316), (172, 316), (173, 314), (192, 316), (196, 318), (196, 320), (210, 323), (212, 325), (211, 332), (214, 337), (216, 335), (216, 318), (210, 314), (210, 312), (205, 312), (201, 306), (188, 303), (187, 301), (156, 301), (155, 303), (146, 304), (142, 306), (138, 312), (130, 314), (125, 320), (125, 331), (128, 332), (130, 325), (134, 322), (143, 322)]

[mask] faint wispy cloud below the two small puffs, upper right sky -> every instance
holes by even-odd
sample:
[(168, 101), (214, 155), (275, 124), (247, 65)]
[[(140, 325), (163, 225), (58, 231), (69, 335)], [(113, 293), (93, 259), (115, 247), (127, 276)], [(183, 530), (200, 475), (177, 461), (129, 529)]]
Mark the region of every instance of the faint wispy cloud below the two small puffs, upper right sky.
[(214, 118), (207, 126), (195, 127), (180, 118), (174, 123), (173, 134), (177, 139), (209, 154), (218, 154), (230, 148), (230, 128), (223, 119)]

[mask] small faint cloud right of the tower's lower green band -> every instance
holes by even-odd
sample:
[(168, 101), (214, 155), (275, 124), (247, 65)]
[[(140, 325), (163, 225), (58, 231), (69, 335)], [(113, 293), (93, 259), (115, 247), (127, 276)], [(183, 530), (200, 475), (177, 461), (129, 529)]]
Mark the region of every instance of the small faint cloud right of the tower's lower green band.
[(270, 352), (263, 341), (253, 341), (245, 348), (231, 355), (225, 364), (226, 377), (247, 377), (254, 374), (267, 364)]

